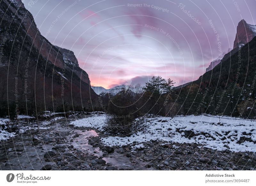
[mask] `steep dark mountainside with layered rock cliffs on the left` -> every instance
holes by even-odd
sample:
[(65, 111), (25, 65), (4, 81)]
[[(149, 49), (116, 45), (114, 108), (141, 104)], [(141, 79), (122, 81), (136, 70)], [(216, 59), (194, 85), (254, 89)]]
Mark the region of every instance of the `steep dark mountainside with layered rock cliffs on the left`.
[(88, 74), (41, 35), (21, 0), (2, 0), (0, 17), (0, 115), (92, 108)]

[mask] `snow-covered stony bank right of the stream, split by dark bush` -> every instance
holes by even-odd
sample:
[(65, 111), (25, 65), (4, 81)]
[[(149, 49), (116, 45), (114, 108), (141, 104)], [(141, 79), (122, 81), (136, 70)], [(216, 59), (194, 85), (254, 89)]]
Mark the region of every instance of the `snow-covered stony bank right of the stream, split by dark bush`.
[[(71, 124), (102, 130), (106, 127), (105, 120), (106, 115), (95, 115)], [(196, 136), (187, 138), (185, 130), (193, 131)], [(196, 143), (217, 150), (227, 149), (228, 145), (234, 152), (256, 152), (256, 121), (228, 116), (220, 117), (219, 121), (219, 117), (208, 115), (146, 118), (139, 130), (129, 137), (110, 136), (101, 140), (109, 146), (157, 140), (163, 143)]]

